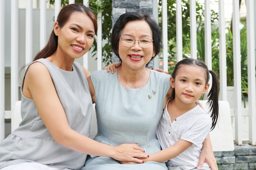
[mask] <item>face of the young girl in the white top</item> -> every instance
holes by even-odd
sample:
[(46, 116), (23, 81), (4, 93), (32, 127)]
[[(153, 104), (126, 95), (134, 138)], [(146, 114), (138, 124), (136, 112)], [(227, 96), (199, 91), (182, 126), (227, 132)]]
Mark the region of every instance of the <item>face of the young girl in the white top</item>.
[(175, 88), (175, 100), (180, 100), (184, 104), (194, 104), (209, 88), (205, 77), (203, 68), (181, 65), (175, 79), (171, 78), (171, 86)]

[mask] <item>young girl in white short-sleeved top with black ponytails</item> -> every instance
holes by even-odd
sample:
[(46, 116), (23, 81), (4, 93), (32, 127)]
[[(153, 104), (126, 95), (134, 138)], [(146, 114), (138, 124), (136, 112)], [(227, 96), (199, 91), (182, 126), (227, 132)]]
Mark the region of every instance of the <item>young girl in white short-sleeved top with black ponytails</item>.
[[(213, 79), (208, 94), (211, 117), (196, 104), (209, 88), (209, 73)], [(202, 142), (216, 126), (218, 119), (218, 76), (200, 60), (187, 58), (176, 64), (171, 87), (174, 88), (173, 93), (157, 127), (157, 138), (162, 150), (150, 155), (145, 161), (168, 160), (168, 170), (196, 169)], [(204, 163), (200, 170), (211, 168)]]

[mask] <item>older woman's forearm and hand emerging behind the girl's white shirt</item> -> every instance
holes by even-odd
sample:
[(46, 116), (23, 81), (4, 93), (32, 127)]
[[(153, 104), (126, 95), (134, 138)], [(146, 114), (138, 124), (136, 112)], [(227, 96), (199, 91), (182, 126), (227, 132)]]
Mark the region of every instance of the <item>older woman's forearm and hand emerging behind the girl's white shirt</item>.
[(204, 162), (206, 162), (211, 167), (211, 170), (218, 170), (217, 161), (213, 154), (213, 149), (212, 149), (211, 139), (209, 134), (204, 139), (203, 148), (200, 153), (198, 166), (196, 168), (202, 168)]

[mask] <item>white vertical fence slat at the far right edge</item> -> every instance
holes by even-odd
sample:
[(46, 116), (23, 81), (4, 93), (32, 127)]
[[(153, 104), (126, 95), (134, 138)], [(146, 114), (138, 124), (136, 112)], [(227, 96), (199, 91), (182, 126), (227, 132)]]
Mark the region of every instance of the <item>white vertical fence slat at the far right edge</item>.
[(247, 7), (247, 59), (248, 59), (248, 103), (249, 103), (249, 143), (256, 145), (256, 85), (255, 85), (255, 39), (254, 0), (246, 1)]

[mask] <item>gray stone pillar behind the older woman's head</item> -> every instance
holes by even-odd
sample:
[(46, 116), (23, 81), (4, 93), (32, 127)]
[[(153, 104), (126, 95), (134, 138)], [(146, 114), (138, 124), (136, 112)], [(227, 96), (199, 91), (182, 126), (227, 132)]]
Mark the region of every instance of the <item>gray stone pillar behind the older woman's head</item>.
[[(153, 0), (112, 0), (112, 23), (127, 12), (153, 13)], [(120, 62), (113, 53), (112, 62)], [(153, 68), (153, 61), (147, 67)]]

